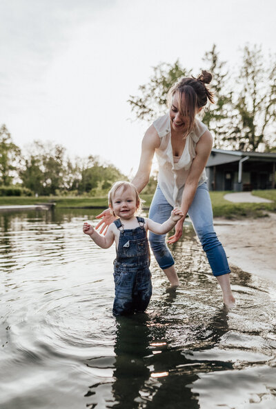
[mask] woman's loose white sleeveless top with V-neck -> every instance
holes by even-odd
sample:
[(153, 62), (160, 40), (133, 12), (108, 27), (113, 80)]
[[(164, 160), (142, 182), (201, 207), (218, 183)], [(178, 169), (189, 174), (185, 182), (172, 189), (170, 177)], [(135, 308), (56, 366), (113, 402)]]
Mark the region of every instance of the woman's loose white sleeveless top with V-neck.
[[(172, 155), (169, 114), (158, 118), (153, 122), (153, 126), (157, 130), (161, 142), (159, 148), (155, 149), (159, 163), (158, 184), (168, 203), (173, 207), (179, 207), (181, 205), (185, 181), (195, 158), (195, 146), (199, 138), (207, 130), (207, 127), (199, 119), (195, 119), (195, 126), (186, 137), (184, 151), (179, 160), (176, 161)], [(206, 171), (204, 169), (199, 177), (198, 186), (206, 180)]]

